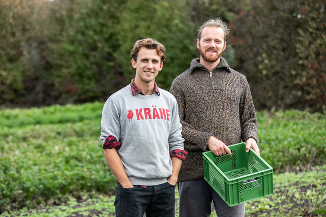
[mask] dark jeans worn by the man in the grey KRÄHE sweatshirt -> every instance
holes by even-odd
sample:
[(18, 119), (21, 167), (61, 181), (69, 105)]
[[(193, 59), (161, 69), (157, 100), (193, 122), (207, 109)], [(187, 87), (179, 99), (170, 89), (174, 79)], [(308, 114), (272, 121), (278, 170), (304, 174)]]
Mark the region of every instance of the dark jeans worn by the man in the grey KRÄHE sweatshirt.
[(123, 188), (120, 183), (115, 193), (116, 217), (175, 216), (175, 185), (169, 182), (147, 186)]

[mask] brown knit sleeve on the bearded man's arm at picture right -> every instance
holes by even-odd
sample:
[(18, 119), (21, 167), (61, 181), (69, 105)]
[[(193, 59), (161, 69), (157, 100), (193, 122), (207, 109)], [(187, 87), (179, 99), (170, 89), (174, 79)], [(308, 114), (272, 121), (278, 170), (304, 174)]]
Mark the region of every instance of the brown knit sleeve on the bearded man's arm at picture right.
[(249, 138), (256, 140), (258, 144), (257, 117), (252, 101), (247, 80), (244, 82), (244, 91), (240, 100), (241, 139), (246, 142)]

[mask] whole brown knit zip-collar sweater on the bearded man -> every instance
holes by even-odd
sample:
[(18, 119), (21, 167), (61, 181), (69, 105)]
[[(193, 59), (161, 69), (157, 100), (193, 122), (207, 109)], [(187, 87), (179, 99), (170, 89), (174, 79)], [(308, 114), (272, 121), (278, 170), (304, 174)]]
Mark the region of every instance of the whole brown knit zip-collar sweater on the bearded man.
[[(172, 83), (170, 92), (176, 97), (183, 126), (185, 150), (178, 181), (204, 178), (203, 152), (209, 151), (211, 136), (226, 145), (257, 141), (257, 118), (247, 79), (231, 69), (221, 57), (212, 71), (194, 59), (191, 67)], [(214, 88), (213, 88), (214, 87)]]

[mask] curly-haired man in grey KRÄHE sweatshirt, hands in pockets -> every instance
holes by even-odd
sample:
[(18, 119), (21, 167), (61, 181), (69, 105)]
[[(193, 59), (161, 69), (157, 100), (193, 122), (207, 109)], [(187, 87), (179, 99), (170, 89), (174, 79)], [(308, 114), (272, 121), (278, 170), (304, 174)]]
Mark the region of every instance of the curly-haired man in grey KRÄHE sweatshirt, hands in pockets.
[(135, 78), (103, 107), (100, 138), (119, 182), (115, 216), (175, 216), (175, 185), (187, 151), (177, 101), (155, 83), (165, 51), (156, 40), (138, 40), (131, 51)]

